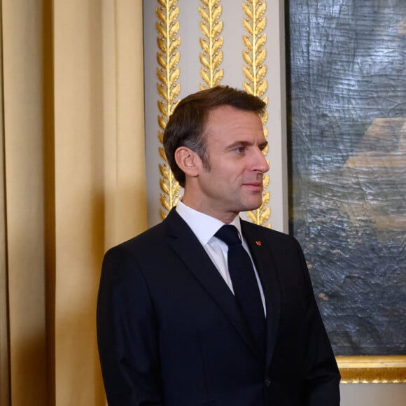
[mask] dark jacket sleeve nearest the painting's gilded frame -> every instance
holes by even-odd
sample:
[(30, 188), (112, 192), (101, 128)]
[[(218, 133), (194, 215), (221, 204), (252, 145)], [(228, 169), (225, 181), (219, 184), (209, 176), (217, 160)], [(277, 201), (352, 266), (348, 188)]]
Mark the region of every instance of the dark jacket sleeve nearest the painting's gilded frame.
[(339, 406), (339, 370), (332, 353), (330, 340), (320, 311), (314, 298), (313, 288), (302, 248), (297, 243), (302, 266), (305, 269), (305, 284), (309, 289), (309, 304), (306, 311), (308, 345), (306, 357), (306, 405)]

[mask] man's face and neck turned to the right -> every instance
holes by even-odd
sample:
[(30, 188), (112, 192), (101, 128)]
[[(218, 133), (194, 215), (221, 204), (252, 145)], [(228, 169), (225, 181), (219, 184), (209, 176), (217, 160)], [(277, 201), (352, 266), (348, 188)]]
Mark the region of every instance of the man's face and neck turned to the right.
[(209, 165), (201, 165), (195, 179), (195, 208), (224, 222), (240, 211), (258, 209), (263, 174), (269, 169), (258, 115), (220, 106), (209, 113), (204, 133)]

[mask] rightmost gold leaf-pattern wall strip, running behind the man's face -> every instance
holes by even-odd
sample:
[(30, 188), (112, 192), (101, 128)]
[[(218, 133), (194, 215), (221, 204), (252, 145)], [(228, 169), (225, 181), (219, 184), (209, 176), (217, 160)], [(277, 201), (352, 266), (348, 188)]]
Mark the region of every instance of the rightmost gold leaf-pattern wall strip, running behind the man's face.
[[(267, 41), (267, 34), (264, 33), (265, 26), (267, 25), (267, 19), (265, 12), (267, 10), (266, 1), (248, 0), (242, 3), (242, 8), (245, 14), (245, 18), (242, 20), (242, 25), (247, 32), (242, 36), (244, 43), (244, 50), (242, 57), (245, 62), (242, 71), (247, 81), (244, 81), (244, 90), (255, 96), (262, 97), (267, 91), (267, 80), (265, 75), (267, 73), (267, 66), (264, 64), (265, 57), (267, 56), (267, 50), (265, 44)], [(268, 102), (267, 97), (262, 97), (265, 103)], [(268, 113), (265, 112), (262, 117), (262, 125), (264, 125), (265, 137), (268, 136), (267, 128), (265, 124), (268, 120)], [(268, 148), (263, 151), (264, 155), (267, 155)], [(270, 193), (267, 192), (269, 185), (269, 175), (264, 176), (264, 191), (262, 192), (262, 204), (254, 211), (247, 211), (247, 216), (250, 221), (255, 224), (264, 225), (270, 228), (269, 216), (271, 215), (271, 209), (268, 206), (270, 200)]]

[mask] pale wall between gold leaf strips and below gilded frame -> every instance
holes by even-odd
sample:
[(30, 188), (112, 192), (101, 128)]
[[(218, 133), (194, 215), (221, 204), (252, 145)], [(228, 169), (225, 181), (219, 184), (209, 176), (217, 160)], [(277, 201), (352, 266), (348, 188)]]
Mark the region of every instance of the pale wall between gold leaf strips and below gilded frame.
[[(201, 78), (199, 74), (198, 38), (202, 34), (197, 21), (199, 16), (198, 0), (179, 0), (181, 36), (181, 97), (198, 90)], [(225, 37), (225, 70), (223, 83), (236, 87), (242, 86), (244, 76), (241, 71), (241, 1), (222, 0)], [(156, 91), (156, 36), (155, 1), (144, 0), (144, 74), (146, 109), (146, 168), (148, 191), (148, 225), (160, 221), (158, 165), (158, 107)], [(284, 108), (284, 38), (283, 38), (283, 1), (267, 1), (267, 80), (269, 97), (269, 155), (271, 164), (271, 208), (272, 227), (287, 231), (287, 171), (286, 171), (286, 135)], [(232, 38), (228, 41), (227, 38)], [(228, 41), (228, 42), (227, 42)], [(237, 67), (236, 67), (237, 66)], [(405, 406), (406, 384), (342, 384), (342, 406)]]

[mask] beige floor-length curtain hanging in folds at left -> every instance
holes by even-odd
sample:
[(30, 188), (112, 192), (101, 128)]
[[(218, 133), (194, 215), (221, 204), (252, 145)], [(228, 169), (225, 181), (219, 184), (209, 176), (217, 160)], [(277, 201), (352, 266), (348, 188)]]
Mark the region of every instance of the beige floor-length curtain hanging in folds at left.
[(146, 229), (141, 0), (2, 0), (0, 404), (104, 405), (106, 248)]

